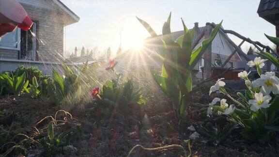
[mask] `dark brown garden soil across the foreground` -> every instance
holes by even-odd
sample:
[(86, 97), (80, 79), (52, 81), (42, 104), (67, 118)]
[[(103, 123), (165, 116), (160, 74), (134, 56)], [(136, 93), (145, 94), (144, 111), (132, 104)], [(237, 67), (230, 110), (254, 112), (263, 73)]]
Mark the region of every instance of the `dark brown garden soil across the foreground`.
[[(78, 148), (78, 152), (72, 156), (122, 157), (126, 156), (131, 148), (137, 144), (146, 148), (179, 144), (189, 153), (188, 145), (184, 140), (189, 138), (187, 126), (194, 121), (187, 119), (178, 124), (171, 102), (167, 98), (149, 97), (148, 100), (148, 104), (140, 107), (132, 106), (109, 110), (104, 107), (96, 107), (93, 103), (87, 103), (78, 105), (79, 108), (71, 110), (75, 122), (80, 123), (83, 129), (82, 135), (73, 140), (72, 144)], [(34, 125), (47, 115), (54, 116), (55, 112), (60, 110), (57, 107), (50, 106), (46, 101), (33, 99), (25, 95), (1, 97), (0, 110), (4, 109), (28, 116), (28, 126)], [(200, 120), (202, 113), (195, 112), (194, 106), (192, 110), (193, 114), (191, 116), (199, 116), (194, 120)], [(279, 156), (279, 137), (276, 137), (275, 141), (266, 146), (255, 143), (248, 144), (241, 140), (236, 130), (224, 145), (215, 147), (208, 144), (191, 143), (192, 156)], [(151, 152), (138, 148), (135, 149), (132, 156), (179, 157), (184, 156), (184, 154), (179, 149)]]

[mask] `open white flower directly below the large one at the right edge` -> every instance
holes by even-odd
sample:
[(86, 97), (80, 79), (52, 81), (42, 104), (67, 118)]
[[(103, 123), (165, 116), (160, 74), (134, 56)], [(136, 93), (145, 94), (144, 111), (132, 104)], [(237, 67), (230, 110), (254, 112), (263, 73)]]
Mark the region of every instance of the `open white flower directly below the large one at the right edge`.
[(271, 97), (269, 95), (263, 96), (263, 93), (256, 93), (254, 95), (254, 100), (249, 100), (249, 104), (251, 104), (251, 110), (257, 111), (260, 108), (268, 108), (270, 106), (269, 101)]

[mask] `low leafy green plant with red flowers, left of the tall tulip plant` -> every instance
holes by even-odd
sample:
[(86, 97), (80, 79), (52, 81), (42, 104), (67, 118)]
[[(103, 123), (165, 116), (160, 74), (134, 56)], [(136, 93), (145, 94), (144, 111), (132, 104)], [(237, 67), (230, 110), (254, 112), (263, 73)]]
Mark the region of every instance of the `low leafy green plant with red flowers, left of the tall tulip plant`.
[(117, 74), (117, 78), (107, 80), (100, 92), (98, 88), (93, 90), (92, 95), (97, 102), (112, 106), (145, 104), (147, 100), (141, 92), (142, 88), (134, 92), (132, 79), (127, 78), (123, 83), (119, 83), (120, 76)]

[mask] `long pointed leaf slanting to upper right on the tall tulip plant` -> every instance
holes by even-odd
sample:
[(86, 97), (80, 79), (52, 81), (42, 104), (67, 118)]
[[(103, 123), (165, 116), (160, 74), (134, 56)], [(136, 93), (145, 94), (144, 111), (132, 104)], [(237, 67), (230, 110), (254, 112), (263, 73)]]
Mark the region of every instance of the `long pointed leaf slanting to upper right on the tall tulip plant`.
[(191, 71), (194, 66), (199, 62), (200, 58), (202, 57), (202, 54), (205, 52), (205, 50), (207, 49), (207, 47), (210, 46), (210, 44), (212, 43), (213, 39), (215, 38), (215, 36), (217, 35), (217, 32), (219, 31), (219, 28), (221, 27), (222, 25), (222, 22), (221, 21), (214, 29), (213, 31), (211, 32), (210, 34), (210, 37), (203, 40), (202, 41), (202, 45), (200, 47), (198, 47), (196, 50), (194, 50), (192, 52), (192, 55), (191, 55), (191, 59), (189, 61), (189, 70)]

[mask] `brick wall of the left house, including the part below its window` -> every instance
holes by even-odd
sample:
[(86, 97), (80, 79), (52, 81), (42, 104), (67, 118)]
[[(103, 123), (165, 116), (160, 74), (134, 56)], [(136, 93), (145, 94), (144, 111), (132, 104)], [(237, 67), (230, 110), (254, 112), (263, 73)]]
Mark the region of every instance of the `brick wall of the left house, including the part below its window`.
[[(65, 15), (63, 15), (61, 8), (52, 0), (18, 1), (32, 21), (36, 23), (36, 60), (62, 61)], [(19, 50), (0, 48), (0, 58), (20, 59), (18, 56)]]

